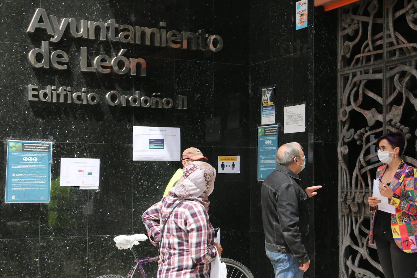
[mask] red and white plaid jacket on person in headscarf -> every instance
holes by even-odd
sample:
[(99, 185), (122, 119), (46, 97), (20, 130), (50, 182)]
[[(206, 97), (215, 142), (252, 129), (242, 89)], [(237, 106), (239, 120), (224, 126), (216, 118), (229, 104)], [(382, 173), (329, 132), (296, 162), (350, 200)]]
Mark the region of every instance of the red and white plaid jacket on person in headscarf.
[[(167, 195), (142, 215), (151, 243), (159, 246), (160, 223), (165, 223), (180, 199)], [(216, 258), (214, 230), (206, 209), (196, 201), (178, 205), (166, 223), (158, 262), (158, 278), (209, 278)]]

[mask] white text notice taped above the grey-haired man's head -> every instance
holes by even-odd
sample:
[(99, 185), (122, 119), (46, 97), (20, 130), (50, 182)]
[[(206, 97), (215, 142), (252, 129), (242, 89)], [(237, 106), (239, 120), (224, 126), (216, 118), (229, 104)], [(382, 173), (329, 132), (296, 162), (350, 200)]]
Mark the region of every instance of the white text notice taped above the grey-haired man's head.
[(306, 105), (284, 107), (284, 133), (304, 132)]

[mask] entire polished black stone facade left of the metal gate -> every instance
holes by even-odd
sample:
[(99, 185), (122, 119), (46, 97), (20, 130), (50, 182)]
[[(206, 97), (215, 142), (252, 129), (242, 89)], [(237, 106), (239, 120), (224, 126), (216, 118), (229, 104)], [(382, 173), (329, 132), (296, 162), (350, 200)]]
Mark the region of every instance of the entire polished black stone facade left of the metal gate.
[[(313, 2), (313, 1), (310, 1)], [(337, 260), (337, 84), (336, 13), (315, 14), (309, 27), (295, 31), (294, 1), (178, 0), (5, 0), (0, 5), (1, 138), (52, 139), (51, 203), (2, 203), (0, 276), (96, 277), (125, 275), (130, 253), (118, 250), (114, 235), (145, 233), (141, 214), (160, 200), (179, 162), (132, 161), (132, 127), (181, 128), (181, 149), (200, 148), (216, 165), (218, 155), (240, 155), (241, 173), (219, 174), (211, 195), (210, 219), (220, 226), (224, 257), (239, 260), (255, 277), (270, 277), (260, 215), (261, 182), (256, 181), (256, 126), (260, 125), (261, 88), (276, 87), (279, 144), (298, 141), (306, 151), (305, 186), (323, 185), (311, 201), (314, 215), (306, 277), (336, 277)], [(68, 30), (50, 51), (64, 50), (68, 70), (36, 69), (28, 53), (48, 36), (26, 32), (36, 8), (48, 15), (78, 20), (218, 34), (221, 51), (182, 50), (71, 38)], [(314, 19), (314, 20), (313, 20)], [(100, 75), (80, 71), (80, 48), (92, 60), (100, 54), (143, 58), (146, 76)], [(97, 105), (40, 103), (27, 100), (26, 86), (88, 88)], [(188, 96), (188, 109), (111, 107), (104, 95), (141, 91), (151, 96)], [(306, 132), (284, 134), (283, 108), (306, 103)], [(6, 148), (0, 161), (5, 180)], [(100, 190), (59, 186), (60, 158), (100, 158)], [(4, 186), (0, 195), (4, 196)], [(143, 255), (156, 255), (141, 243)], [(150, 272), (156, 265), (150, 265)], [(59, 274), (57, 276), (57, 273)]]

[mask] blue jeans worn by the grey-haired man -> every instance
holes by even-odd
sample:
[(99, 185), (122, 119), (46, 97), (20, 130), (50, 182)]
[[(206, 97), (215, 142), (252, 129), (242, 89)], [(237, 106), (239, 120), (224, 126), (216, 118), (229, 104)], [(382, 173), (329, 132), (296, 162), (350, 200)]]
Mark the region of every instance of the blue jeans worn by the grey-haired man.
[(266, 256), (274, 266), (275, 278), (303, 278), (304, 271), (292, 253), (272, 252), (267, 249)]

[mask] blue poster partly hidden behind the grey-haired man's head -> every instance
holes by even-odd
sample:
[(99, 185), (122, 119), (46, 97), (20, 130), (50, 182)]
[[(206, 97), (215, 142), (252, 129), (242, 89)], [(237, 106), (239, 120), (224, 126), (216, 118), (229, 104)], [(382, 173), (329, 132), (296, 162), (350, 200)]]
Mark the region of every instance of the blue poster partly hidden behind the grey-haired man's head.
[(258, 180), (264, 180), (276, 168), (278, 125), (258, 128)]

